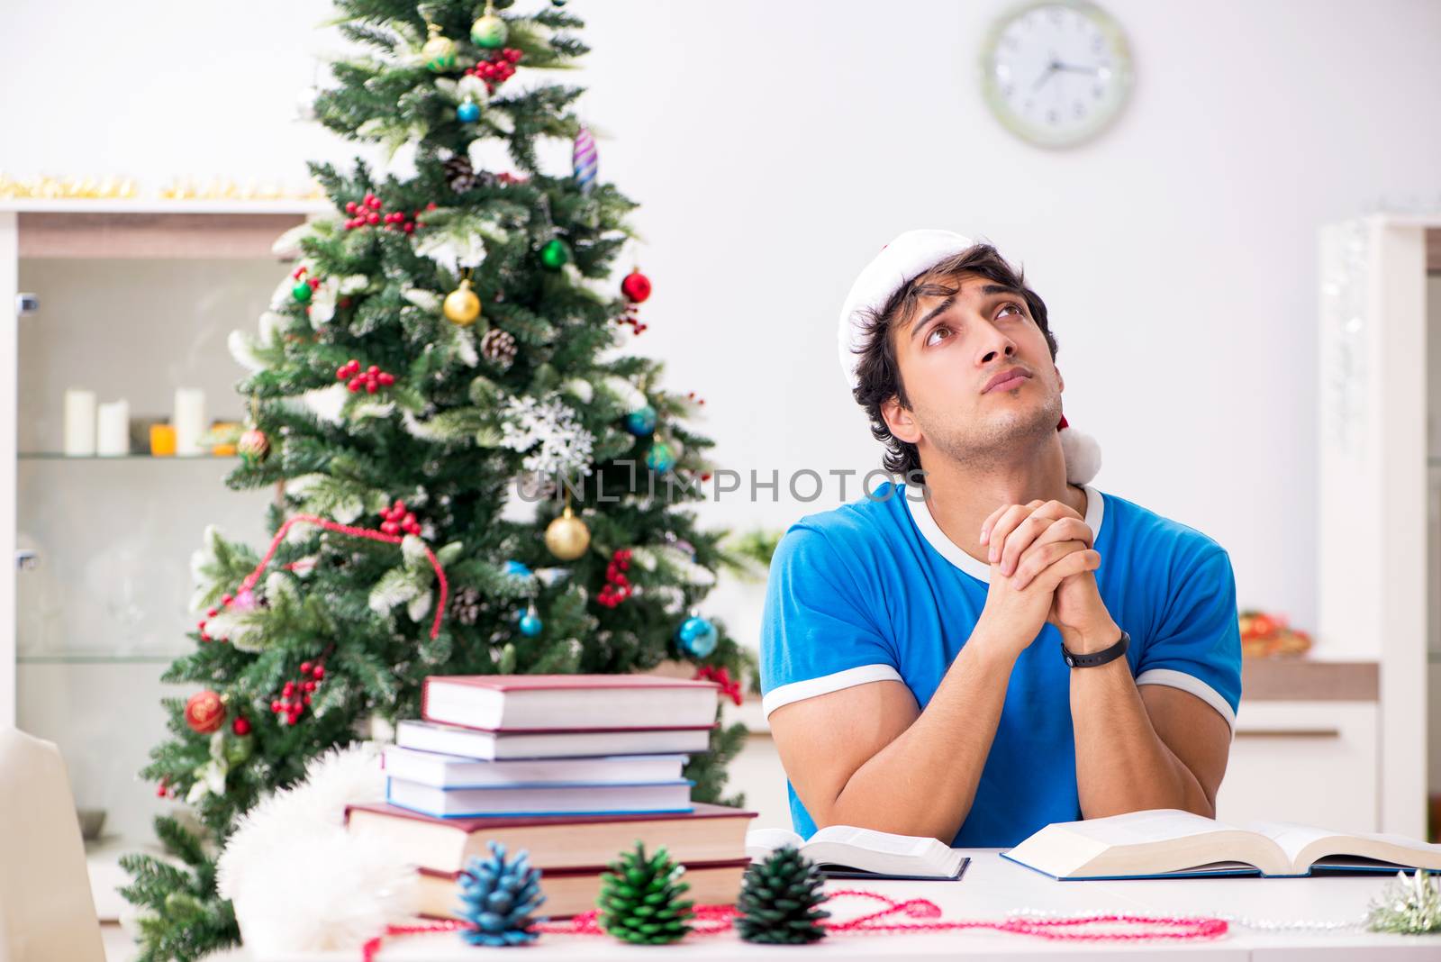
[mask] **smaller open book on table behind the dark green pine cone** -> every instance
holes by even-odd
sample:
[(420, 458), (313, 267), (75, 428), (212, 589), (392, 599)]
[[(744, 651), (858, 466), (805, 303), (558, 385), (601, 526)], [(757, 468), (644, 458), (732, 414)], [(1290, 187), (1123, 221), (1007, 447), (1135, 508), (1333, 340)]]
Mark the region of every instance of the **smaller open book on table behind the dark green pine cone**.
[(970, 863), (958, 848), (935, 838), (850, 825), (827, 825), (810, 841), (787, 828), (755, 828), (745, 834), (745, 854), (751, 861), (761, 861), (785, 845), (798, 848), (834, 878), (960, 878)]

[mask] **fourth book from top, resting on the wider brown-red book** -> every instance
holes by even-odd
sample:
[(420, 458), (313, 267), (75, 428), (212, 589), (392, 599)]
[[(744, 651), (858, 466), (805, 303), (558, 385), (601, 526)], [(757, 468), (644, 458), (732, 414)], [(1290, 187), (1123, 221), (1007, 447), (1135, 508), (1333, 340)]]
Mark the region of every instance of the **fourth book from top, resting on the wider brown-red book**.
[(399, 778), (386, 779), (392, 805), (437, 818), (488, 815), (601, 815), (621, 812), (689, 812), (690, 786), (680, 779), (654, 785), (488, 785), (435, 788)]

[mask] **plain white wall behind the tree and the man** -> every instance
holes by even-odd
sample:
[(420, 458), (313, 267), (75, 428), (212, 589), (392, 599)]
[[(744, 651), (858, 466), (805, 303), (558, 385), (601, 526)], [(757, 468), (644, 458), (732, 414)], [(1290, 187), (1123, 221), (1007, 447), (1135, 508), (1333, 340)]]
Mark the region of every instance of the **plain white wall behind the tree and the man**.
[[(1242, 605), (1314, 626), (1316, 229), (1438, 196), (1441, 4), (1107, 0), (1134, 98), (1065, 153), (981, 104), (977, 43), (1004, 6), (572, 0), (595, 46), (582, 105), (614, 137), (602, 176), (646, 204), (635, 346), (706, 397), (723, 464), (865, 471), (878, 448), (834, 353), (855, 271), (914, 226), (990, 238), (1050, 305), (1098, 485), (1216, 537)], [(0, 170), (298, 183), (303, 158), (352, 154), (290, 120), (334, 49), (327, 12), (10, 4)], [(827, 494), (712, 514), (782, 526)]]

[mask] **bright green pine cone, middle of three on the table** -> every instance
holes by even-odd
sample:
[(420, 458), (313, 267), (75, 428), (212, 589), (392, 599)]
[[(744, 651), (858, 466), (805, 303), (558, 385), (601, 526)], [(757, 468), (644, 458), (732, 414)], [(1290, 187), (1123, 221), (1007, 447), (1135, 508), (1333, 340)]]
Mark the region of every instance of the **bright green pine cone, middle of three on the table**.
[(601, 876), (601, 927), (623, 942), (663, 945), (683, 939), (690, 932), (692, 902), (680, 896), (690, 889), (680, 881), (686, 867), (677, 866), (661, 845), (650, 858), (646, 845), (621, 853)]

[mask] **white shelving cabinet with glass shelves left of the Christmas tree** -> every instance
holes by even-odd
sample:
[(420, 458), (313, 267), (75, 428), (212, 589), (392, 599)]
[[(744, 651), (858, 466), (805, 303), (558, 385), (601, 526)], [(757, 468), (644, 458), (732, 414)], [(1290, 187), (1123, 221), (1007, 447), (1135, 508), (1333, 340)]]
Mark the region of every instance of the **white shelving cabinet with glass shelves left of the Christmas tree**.
[(166, 806), (137, 773), (164, 736), (160, 698), (189, 694), (160, 675), (190, 649), (190, 554), (208, 524), (261, 540), (272, 495), (228, 490), (233, 457), (68, 457), (63, 392), (167, 416), (193, 386), (209, 418), (239, 421), (226, 337), (254, 330), (284, 278), (274, 240), (326, 209), (0, 203), (0, 297), (40, 301), (0, 334), (0, 724), (61, 746), (76, 804), (108, 812), (107, 851), (148, 845)]

